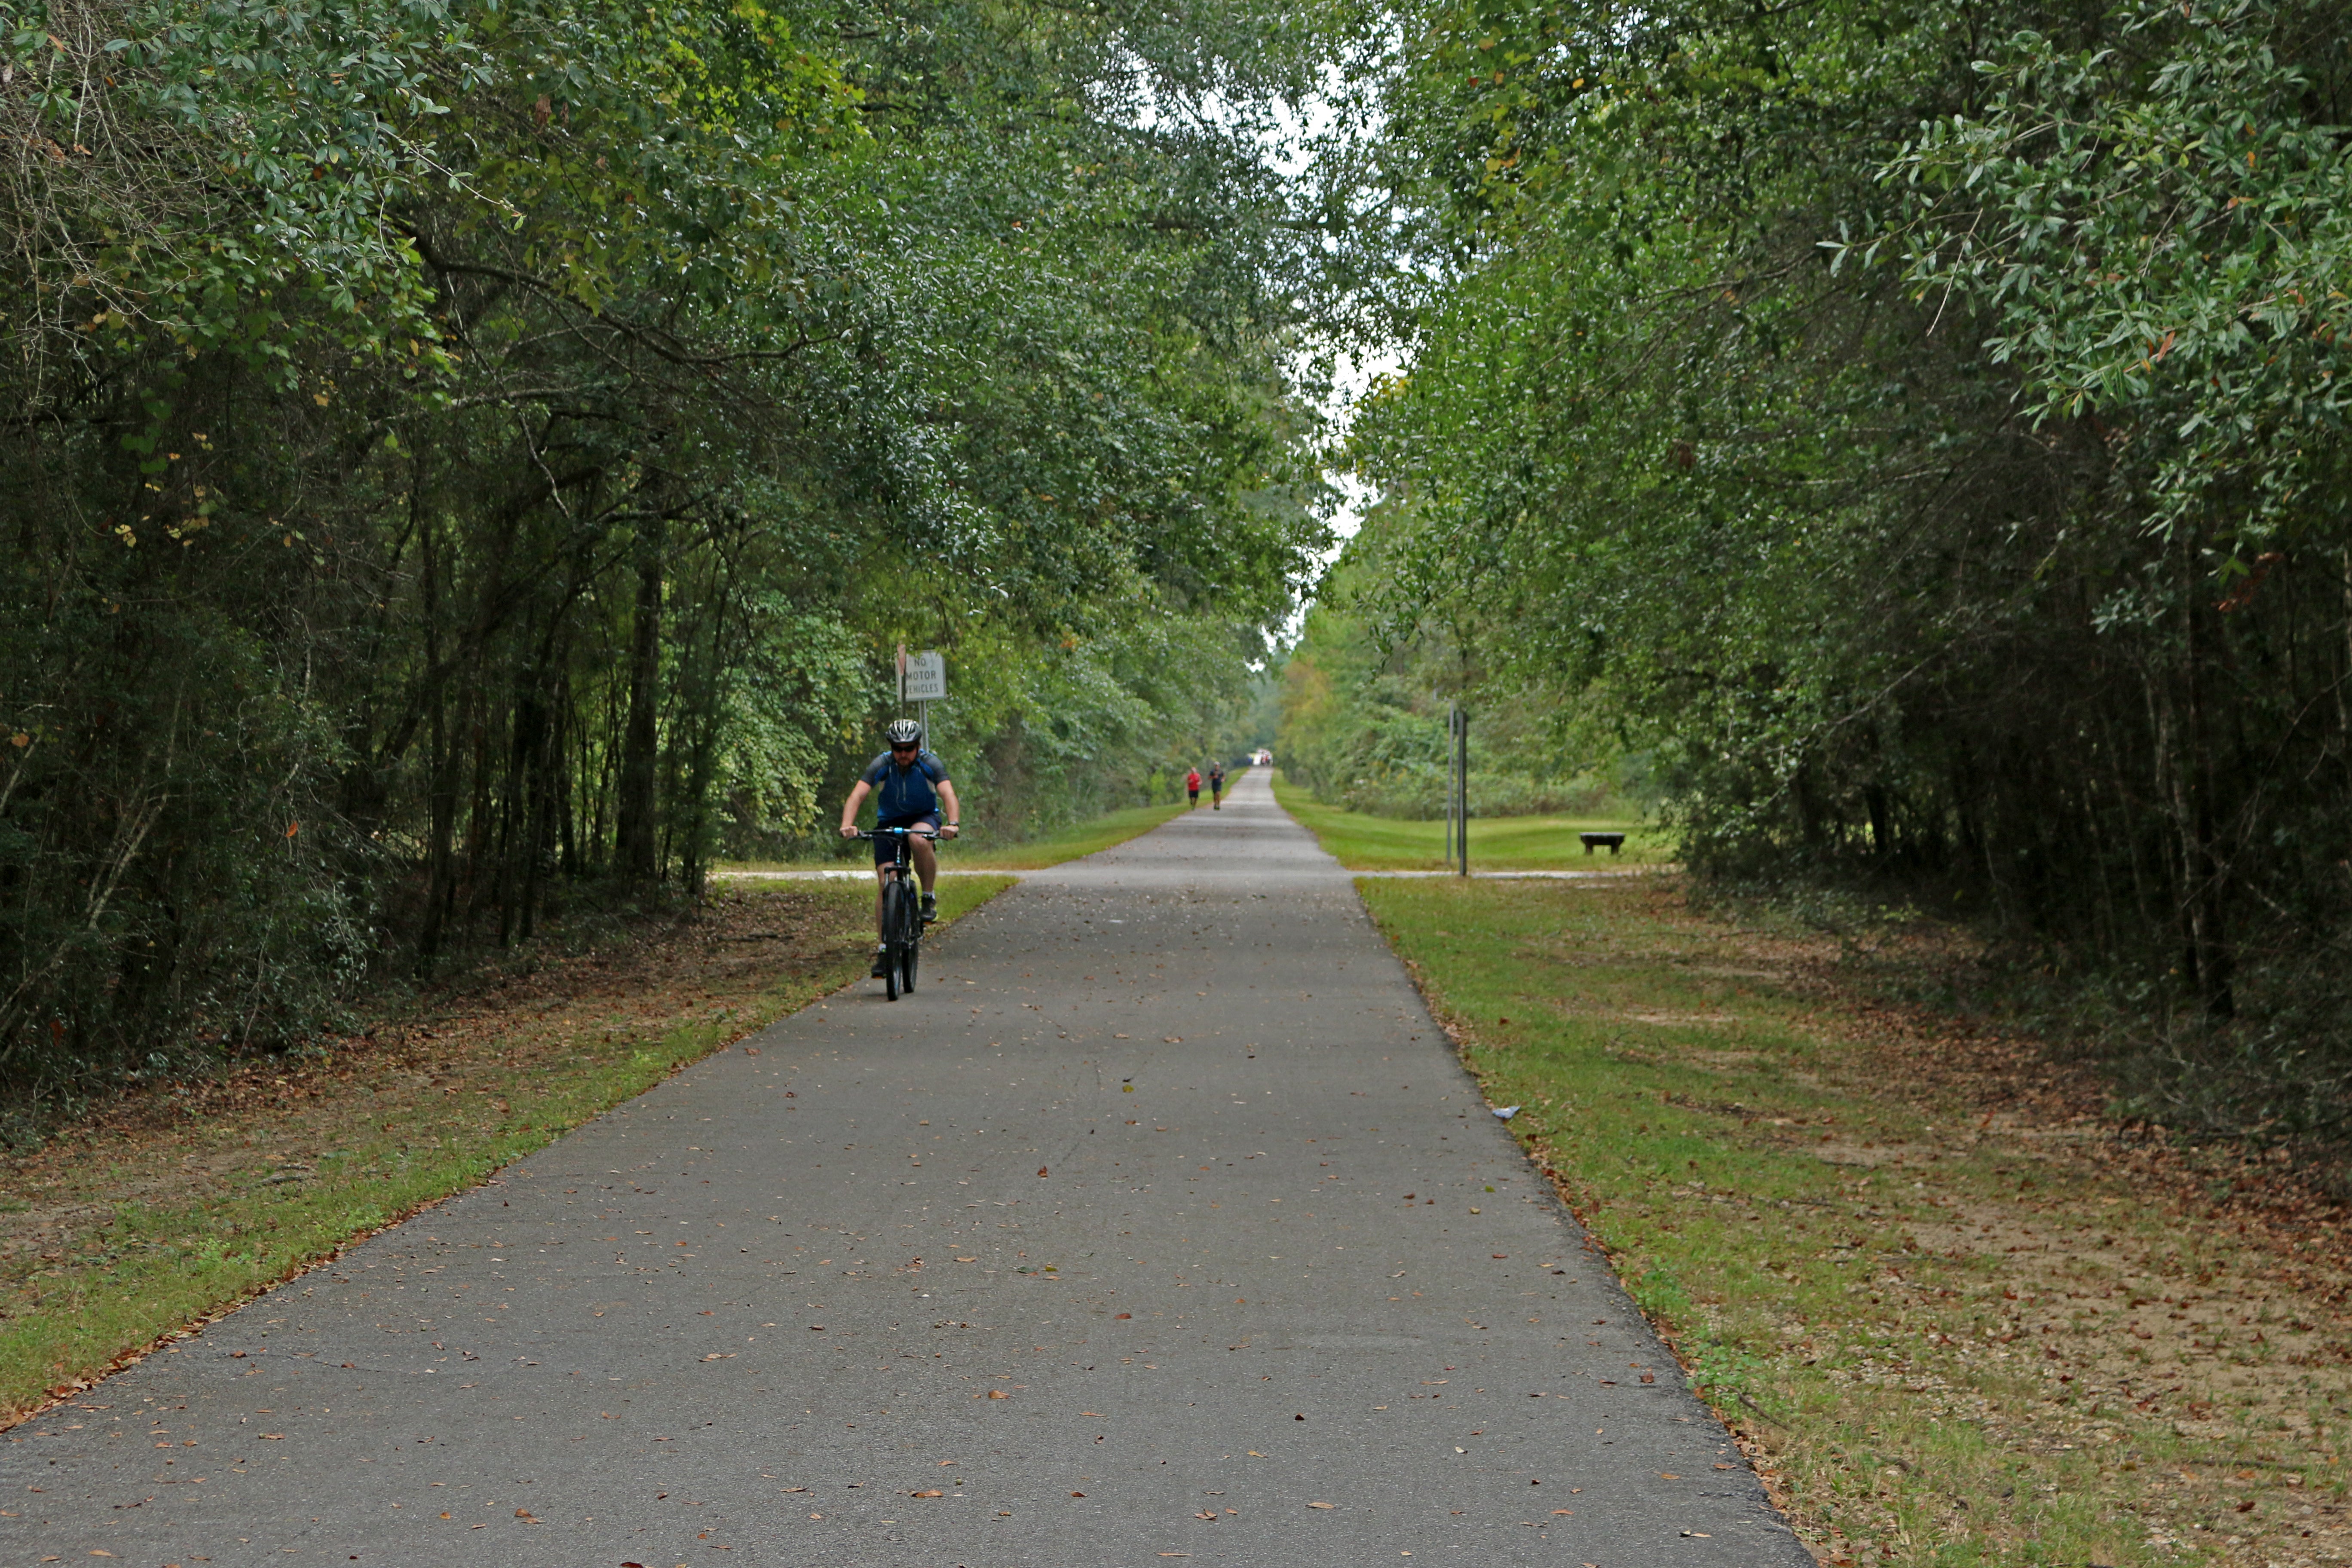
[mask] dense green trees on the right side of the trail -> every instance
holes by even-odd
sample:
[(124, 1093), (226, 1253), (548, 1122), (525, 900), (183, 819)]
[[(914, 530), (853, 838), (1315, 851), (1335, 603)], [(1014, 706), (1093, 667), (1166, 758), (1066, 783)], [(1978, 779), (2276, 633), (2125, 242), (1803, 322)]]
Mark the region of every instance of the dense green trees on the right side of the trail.
[(1392, 16), (1284, 755), (1378, 795), (1463, 698), (1698, 872), (2004, 938), (2140, 1114), (2352, 1133), (2352, 14)]

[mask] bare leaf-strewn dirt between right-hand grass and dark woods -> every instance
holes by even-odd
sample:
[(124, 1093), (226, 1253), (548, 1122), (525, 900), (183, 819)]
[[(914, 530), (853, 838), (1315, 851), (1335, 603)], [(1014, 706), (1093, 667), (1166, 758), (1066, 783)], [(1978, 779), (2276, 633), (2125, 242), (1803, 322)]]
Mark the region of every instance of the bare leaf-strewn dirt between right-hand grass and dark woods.
[[(1877, 1173), (1882, 1190), (1907, 1185), (1933, 1213), (1907, 1239), (1945, 1260), (1990, 1260), (2016, 1302), (1990, 1342), (1945, 1338), (1940, 1349), (2032, 1368), (2046, 1396), (1955, 1396), (1947, 1413), (2023, 1450), (2133, 1450), (2112, 1483), (2136, 1493), (2150, 1547), (2249, 1568), (2352, 1563), (2352, 1208), (2328, 1197), (2333, 1173), (2284, 1147), (2194, 1145), (2117, 1121), (2096, 1063), (1886, 1001), (1900, 966), (1969, 961), (1952, 936), (1915, 943), (1860, 959), (1830, 938), (1743, 945), (1759, 971), (1820, 999), (1816, 1030), (1851, 1041), (1839, 1088), (1933, 1117), (1926, 1135), (1896, 1143), (1835, 1126), (1780, 1138)], [(1936, 1175), (1987, 1157), (2004, 1175), (1992, 1192)], [(1886, 1267), (1875, 1286), (1912, 1293), (1926, 1316), (1936, 1288), (1915, 1272)], [(1926, 1366), (1875, 1375), (1938, 1399)]]

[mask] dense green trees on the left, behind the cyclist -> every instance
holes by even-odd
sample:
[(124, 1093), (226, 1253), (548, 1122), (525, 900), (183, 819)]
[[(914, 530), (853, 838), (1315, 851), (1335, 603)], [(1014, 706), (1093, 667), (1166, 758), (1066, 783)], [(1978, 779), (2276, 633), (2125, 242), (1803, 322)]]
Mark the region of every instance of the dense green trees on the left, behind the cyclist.
[(0, 1088), (299, 1039), (830, 811), (1136, 799), (1324, 543), (1298, 21), (0, 14)]

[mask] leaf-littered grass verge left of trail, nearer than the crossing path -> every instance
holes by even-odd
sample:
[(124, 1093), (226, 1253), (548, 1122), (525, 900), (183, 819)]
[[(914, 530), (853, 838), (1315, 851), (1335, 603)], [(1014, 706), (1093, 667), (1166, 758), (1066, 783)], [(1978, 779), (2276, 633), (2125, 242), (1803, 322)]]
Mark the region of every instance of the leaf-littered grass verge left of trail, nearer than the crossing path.
[[(941, 882), (941, 922), (1011, 886)], [(0, 1427), (866, 973), (861, 884), (534, 952), (329, 1048), (155, 1088), (7, 1161)]]

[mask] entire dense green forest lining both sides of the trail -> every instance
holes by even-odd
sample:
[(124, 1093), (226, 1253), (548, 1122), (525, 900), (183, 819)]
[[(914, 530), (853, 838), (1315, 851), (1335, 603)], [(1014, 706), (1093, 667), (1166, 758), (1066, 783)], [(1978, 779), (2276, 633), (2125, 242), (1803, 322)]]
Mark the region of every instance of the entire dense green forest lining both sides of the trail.
[[(40, 0), (0, 56), (0, 1086), (299, 1037), (1284, 675), (2352, 1133), (2340, 0)], [(1336, 350), (1402, 369), (1327, 451)]]

